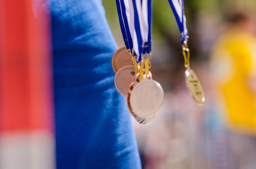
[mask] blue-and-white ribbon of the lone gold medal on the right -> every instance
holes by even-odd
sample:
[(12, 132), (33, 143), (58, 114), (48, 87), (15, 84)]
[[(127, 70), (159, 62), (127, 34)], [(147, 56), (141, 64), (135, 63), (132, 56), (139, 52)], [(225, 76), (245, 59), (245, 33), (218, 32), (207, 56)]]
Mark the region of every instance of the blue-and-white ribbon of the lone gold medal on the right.
[(184, 14), (184, 1), (183, 0), (168, 0), (172, 8), (173, 14), (175, 16), (176, 22), (179, 27), (181, 35), (181, 45), (184, 45), (184, 42), (187, 42), (188, 39), (188, 30), (186, 26), (186, 16)]

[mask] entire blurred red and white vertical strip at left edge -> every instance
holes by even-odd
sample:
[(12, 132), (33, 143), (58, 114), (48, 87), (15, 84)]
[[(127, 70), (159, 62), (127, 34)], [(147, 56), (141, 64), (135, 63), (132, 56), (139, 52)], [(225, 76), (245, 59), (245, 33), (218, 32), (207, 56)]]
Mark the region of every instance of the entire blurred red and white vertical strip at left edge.
[(0, 0), (0, 169), (55, 168), (51, 25), (43, 4)]

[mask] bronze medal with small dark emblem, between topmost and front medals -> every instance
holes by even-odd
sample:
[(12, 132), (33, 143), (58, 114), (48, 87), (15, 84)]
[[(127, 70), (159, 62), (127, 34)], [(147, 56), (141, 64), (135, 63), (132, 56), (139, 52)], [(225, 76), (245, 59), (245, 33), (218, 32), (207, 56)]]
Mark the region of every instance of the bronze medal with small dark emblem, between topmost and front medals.
[(127, 95), (129, 85), (135, 81), (135, 74), (133, 66), (124, 66), (116, 72), (115, 86), (118, 92)]

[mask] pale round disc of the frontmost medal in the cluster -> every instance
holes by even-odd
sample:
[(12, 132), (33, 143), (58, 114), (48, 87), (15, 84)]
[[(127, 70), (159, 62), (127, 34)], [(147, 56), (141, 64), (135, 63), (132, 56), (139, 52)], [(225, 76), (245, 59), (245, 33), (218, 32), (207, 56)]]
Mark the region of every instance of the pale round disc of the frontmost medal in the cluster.
[(155, 80), (145, 79), (136, 84), (130, 96), (131, 108), (134, 116), (152, 117), (161, 108), (164, 92)]

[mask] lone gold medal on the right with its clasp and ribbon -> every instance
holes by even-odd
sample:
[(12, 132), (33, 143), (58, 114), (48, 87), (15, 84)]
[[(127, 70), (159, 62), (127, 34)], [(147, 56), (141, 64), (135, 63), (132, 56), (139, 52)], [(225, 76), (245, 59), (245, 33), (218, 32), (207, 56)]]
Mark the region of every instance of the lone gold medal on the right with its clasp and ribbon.
[(199, 104), (203, 105), (205, 102), (205, 95), (203, 86), (200, 82), (199, 77), (196, 73), (190, 68), (190, 51), (187, 45), (188, 39), (188, 30), (186, 27), (186, 17), (184, 15), (184, 1), (183, 0), (168, 0), (172, 8), (173, 14), (175, 16), (176, 22), (179, 27), (181, 35), (181, 45), (182, 45), (182, 54), (185, 61), (185, 83), (192, 96), (192, 98)]

